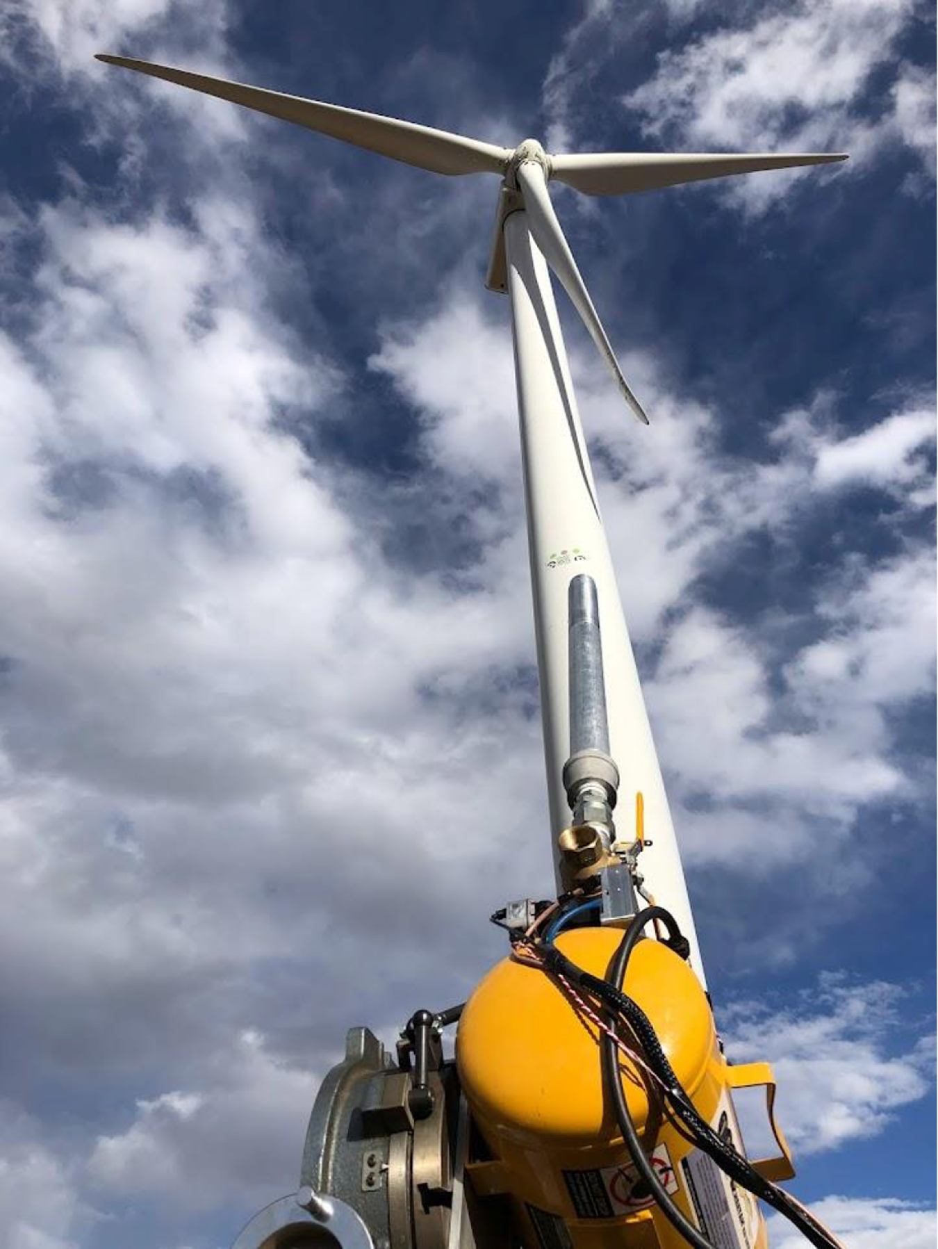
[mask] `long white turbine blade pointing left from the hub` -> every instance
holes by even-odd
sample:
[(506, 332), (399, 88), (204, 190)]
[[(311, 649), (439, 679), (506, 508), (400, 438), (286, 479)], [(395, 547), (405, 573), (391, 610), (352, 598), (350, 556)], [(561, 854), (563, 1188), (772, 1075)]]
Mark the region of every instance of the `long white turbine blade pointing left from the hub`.
[(297, 126), (306, 126), (331, 139), (341, 139), (356, 147), (365, 147), (381, 156), (390, 156), (405, 165), (433, 174), (503, 174), (511, 152), (493, 144), (483, 144), (477, 139), (465, 139), (445, 130), (432, 130), (412, 121), (397, 121), (395, 117), (382, 117), (375, 112), (360, 112), (357, 109), (341, 109), (335, 104), (321, 104), (318, 100), (304, 100), (299, 95), (281, 95), (280, 91), (266, 91), (259, 86), (245, 86), (242, 82), (229, 82), (225, 79), (209, 77), (205, 74), (190, 74), (187, 70), (175, 70), (166, 65), (152, 65), (149, 61), (136, 61), (126, 56), (106, 56), (97, 54), (99, 61), (107, 65), (120, 65), (122, 69), (137, 70), (152, 77), (177, 82), (180, 86), (215, 95), (220, 100), (231, 100), (245, 109), (266, 112), (271, 117), (282, 117)]

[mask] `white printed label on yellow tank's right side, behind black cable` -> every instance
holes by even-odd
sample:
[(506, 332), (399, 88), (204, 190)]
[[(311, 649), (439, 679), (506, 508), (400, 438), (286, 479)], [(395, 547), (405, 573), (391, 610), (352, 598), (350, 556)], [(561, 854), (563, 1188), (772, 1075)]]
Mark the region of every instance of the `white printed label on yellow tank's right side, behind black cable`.
[[(723, 1094), (711, 1127), (739, 1153), (739, 1124), (729, 1098)], [(756, 1198), (739, 1188), (699, 1149), (681, 1160), (697, 1225), (714, 1249), (754, 1249), (759, 1230)]]

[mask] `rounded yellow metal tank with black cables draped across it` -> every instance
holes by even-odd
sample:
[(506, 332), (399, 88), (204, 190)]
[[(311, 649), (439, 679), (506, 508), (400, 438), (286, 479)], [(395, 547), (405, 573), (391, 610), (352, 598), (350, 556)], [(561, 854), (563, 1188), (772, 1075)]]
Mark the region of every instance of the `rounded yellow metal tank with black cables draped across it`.
[[(605, 977), (621, 939), (621, 931), (577, 928), (556, 944)], [(742, 1148), (727, 1063), (688, 964), (657, 940), (639, 940), (625, 990), (651, 1020), (697, 1110)], [(480, 1197), (505, 1195), (527, 1249), (686, 1249), (653, 1205), (603, 1095), (598, 1027), (556, 978), (512, 958), (493, 967), (462, 1013), (456, 1062), (485, 1143), (470, 1157), (467, 1177)], [(754, 1199), (662, 1120), (653, 1093), (649, 1114), (651, 1077), (639, 1065), (623, 1057), (621, 1070), (632, 1119), (654, 1144), (653, 1164), (676, 1204), (712, 1235), (719, 1228), (719, 1244), (762, 1249)]]

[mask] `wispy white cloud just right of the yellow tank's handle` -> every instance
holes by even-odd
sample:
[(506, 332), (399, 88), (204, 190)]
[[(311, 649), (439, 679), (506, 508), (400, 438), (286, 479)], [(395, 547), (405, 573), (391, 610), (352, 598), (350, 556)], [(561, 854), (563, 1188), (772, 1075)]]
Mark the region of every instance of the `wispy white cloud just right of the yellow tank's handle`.
[(721, 1012), (729, 1055), (774, 1067), (776, 1112), (796, 1158), (876, 1137), (931, 1090), (934, 1038), (896, 1053), (903, 997), (896, 984), (828, 974), (787, 1009), (746, 1002)]

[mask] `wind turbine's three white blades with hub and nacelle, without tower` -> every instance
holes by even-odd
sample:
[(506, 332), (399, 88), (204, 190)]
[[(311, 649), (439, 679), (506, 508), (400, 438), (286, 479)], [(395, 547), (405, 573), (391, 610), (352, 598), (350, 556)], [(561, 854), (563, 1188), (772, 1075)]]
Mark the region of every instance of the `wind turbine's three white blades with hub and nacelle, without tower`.
[(777, 155), (753, 152), (669, 154), (669, 152), (578, 152), (548, 155), (536, 139), (525, 139), (512, 151), (467, 139), (445, 130), (433, 130), (412, 121), (398, 121), (375, 112), (343, 109), (320, 100), (284, 95), (264, 87), (229, 82), (206, 74), (192, 74), (167, 65), (131, 60), (125, 56), (100, 54), (99, 61), (137, 70), (151, 77), (176, 82), (180, 86), (230, 100), (242, 107), (269, 116), (291, 121), (295, 125), (328, 135), (342, 142), (367, 151), (415, 165), (418, 169), (447, 176), (463, 174), (498, 174), (502, 190), (496, 215), (496, 237), (488, 265), (486, 286), (493, 291), (506, 290), (505, 219), (525, 211), (531, 235), (545, 260), (560, 280), (573, 307), (580, 313), (590, 337), (616, 378), (623, 398), (639, 421), (648, 423), (642, 406), (622, 376), (608, 335), (590, 299), (586, 284), (577, 269), (563, 230), (553, 211), (547, 184), (551, 179), (565, 182), (583, 195), (628, 195), (683, 182), (727, 177), (734, 174), (752, 174), (759, 170), (792, 169), (799, 165), (822, 165), (846, 160), (843, 154), (802, 152)]

